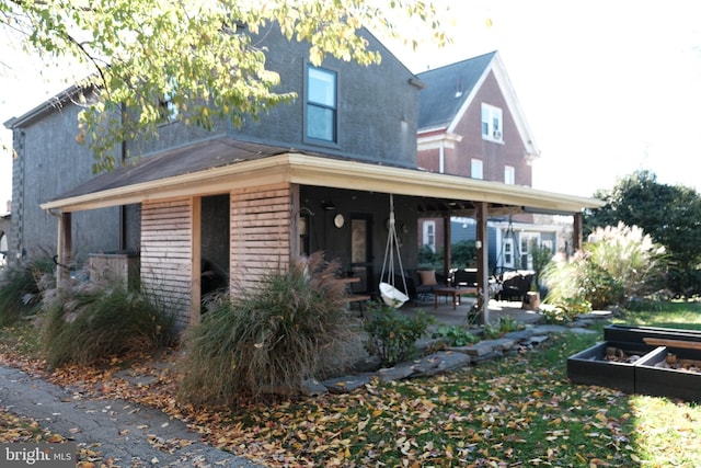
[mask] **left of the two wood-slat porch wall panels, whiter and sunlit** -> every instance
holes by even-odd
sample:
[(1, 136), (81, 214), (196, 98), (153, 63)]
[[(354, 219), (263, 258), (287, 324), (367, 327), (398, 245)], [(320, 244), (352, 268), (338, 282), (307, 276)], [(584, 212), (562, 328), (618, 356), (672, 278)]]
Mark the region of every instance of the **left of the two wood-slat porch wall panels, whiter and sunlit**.
[(192, 201), (143, 202), (141, 281), (175, 313), (179, 330), (189, 324)]

